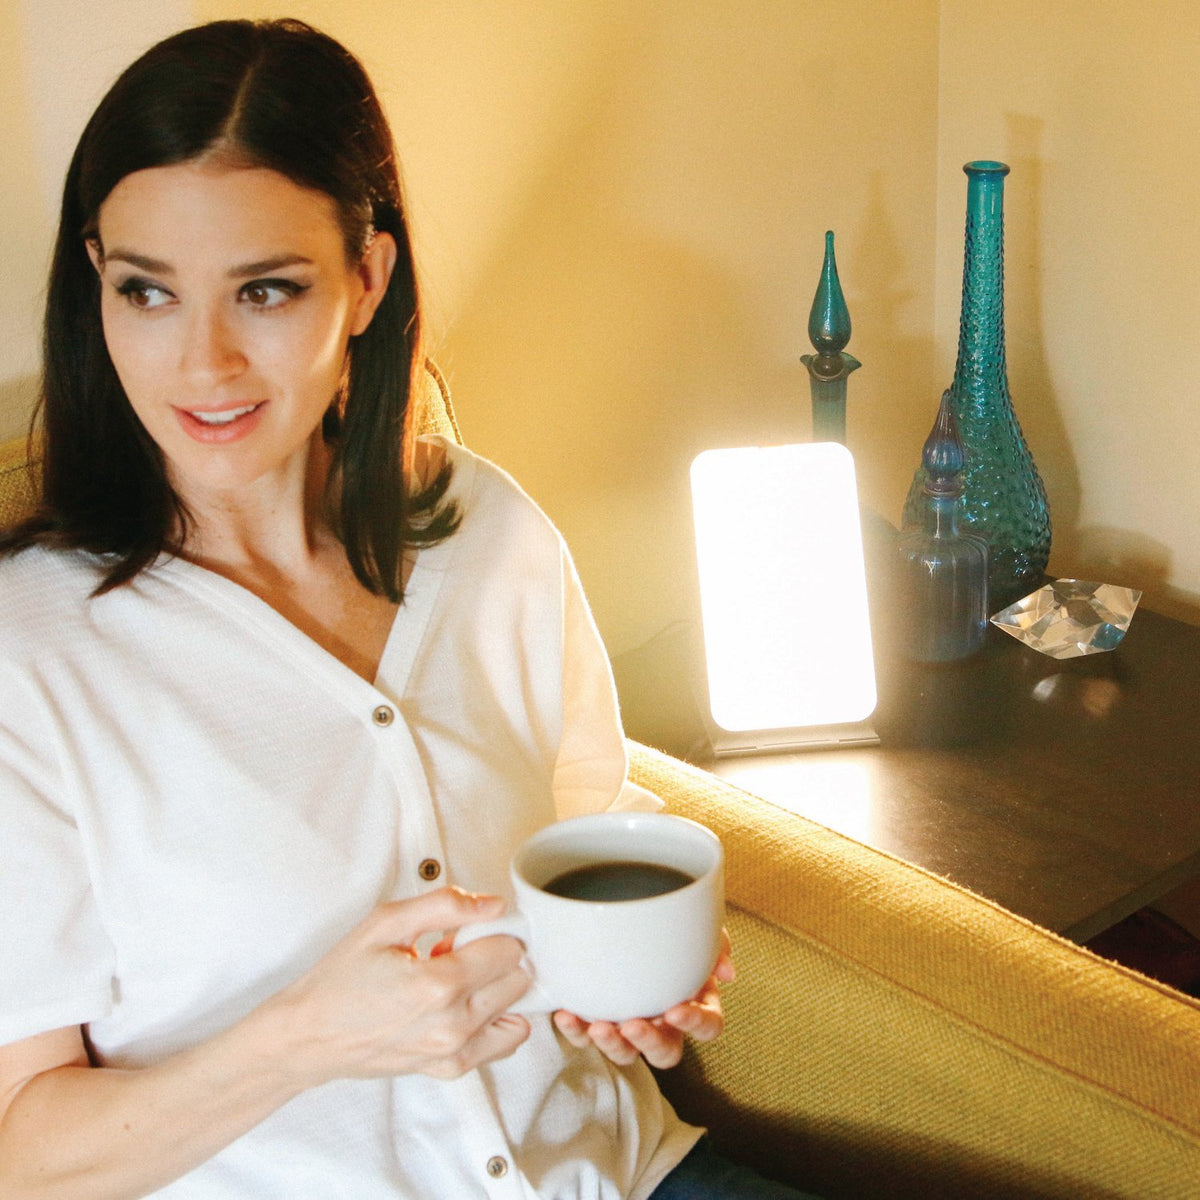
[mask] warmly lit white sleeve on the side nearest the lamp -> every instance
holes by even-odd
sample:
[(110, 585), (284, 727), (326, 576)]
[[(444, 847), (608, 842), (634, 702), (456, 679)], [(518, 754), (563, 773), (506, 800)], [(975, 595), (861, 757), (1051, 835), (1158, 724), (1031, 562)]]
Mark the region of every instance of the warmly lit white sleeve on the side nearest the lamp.
[(554, 764), (558, 816), (655, 810), (662, 802), (628, 778), (617, 689), (600, 631), (563, 547), (563, 736)]

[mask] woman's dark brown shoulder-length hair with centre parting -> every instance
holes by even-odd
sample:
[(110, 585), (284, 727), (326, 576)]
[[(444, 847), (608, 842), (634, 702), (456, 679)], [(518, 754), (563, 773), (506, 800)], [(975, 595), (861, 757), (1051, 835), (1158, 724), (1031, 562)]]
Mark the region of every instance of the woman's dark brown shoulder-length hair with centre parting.
[[(359, 61), (298, 20), (220, 20), (160, 42), (113, 84), (67, 172), (46, 306), (42, 505), (0, 536), (103, 556), (98, 592), (179, 548), (187, 512), (133, 413), (104, 344), (86, 253), (100, 206), (128, 174), (220, 154), (329, 196), (349, 262), (372, 232), (397, 262), (370, 326), (352, 338), (344, 395), (330, 397), (331, 512), (354, 574), (403, 599), (406, 546), (450, 534), (449, 469), (409, 494), (410, 397), (424, 371), (420, 306), (396, 151)], [(419, 392), (418, 392), (419, 394)]]

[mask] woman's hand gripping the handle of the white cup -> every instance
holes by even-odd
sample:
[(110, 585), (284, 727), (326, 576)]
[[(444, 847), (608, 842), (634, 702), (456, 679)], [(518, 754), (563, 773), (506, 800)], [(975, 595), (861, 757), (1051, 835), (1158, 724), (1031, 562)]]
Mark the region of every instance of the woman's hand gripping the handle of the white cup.
[(486, 937), (462, 949), (413, 949), (503, 911), (494, 896), (443, 888), (376, 908), (316, 966), (268, 1001), (304, 1086), (338, 1078), (454, 1079), (503, 1058), (529, 1036), (508, 1013), (529, 986), (521, 944)]

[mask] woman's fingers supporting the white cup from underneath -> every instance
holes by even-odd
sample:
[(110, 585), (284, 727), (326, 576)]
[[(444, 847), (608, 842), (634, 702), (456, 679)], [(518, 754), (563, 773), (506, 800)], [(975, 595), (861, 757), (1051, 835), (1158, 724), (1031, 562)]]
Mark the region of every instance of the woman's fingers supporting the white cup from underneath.
[(683, 1057), (684, 1037), (712, 1042), (725, 1028), (718, 984), (732, 983), (733, 960), (730, 956), (730, 935), (721, 931), (721, 954), (713, 973), (700, 992), (683, 1004), (676, 1004), (661, 1016), (636, 1018), (614, 1025), (593, 1021), (590, 1025), (574, 1013), (559, 1010), (554, 1026), (574, 1046), (596, 1046), (618, 1066), (628, 1066), (638, 1057), (652, 1067), (674, 1067)]

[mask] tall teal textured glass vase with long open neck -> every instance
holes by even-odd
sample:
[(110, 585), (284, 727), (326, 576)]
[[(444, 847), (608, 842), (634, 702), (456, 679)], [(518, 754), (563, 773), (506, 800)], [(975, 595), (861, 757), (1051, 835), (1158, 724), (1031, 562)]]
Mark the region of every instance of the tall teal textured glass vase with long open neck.
[[(949, 402), (962, 439), (960, 521), (988, 542), (988, 595), (998, 611), (1040, 586), (1050, 558), (1046, 493), (1008, 391), (1004, 358), (1004, 176), (1002, 162), (968, 162), (959, 356)], [(905, 503), (922, 520), (925, 469)]]

